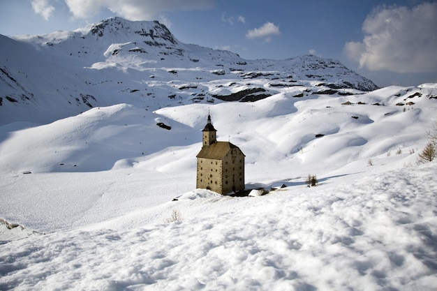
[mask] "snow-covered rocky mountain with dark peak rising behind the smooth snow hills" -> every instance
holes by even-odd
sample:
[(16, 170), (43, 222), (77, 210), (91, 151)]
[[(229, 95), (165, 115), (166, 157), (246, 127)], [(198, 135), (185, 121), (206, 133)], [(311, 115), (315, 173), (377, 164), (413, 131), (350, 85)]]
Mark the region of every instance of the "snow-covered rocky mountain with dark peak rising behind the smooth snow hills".
[(280, 88), (300, 88), (297, 95), (377, 89), (332, 59), (245, 60), (181, 43), (159, 22), (119, 17), (44, 36), (0, 36), (0, 43), (0, 124), (47, 123), (119, 103), (156, 110), (255, 101)]

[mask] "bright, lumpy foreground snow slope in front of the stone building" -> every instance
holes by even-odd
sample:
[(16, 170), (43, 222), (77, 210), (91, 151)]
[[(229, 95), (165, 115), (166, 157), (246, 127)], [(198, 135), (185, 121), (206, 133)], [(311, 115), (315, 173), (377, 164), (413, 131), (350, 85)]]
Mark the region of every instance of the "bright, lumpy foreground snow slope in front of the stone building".
[(119, 218), (178, 209), (182, 221), (109, 221), (3, 244), (0, 288), (436, 290), (436, 174), (429, 163), (260, 197), (188, 192), (159, 214)]

